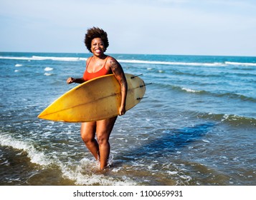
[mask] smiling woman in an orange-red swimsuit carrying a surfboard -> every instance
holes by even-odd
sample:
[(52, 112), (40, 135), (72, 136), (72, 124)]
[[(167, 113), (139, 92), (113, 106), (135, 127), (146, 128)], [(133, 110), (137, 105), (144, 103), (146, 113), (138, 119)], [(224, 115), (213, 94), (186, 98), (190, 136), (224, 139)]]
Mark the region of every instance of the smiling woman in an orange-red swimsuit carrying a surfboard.
[[(120, 66), (118, 61), (111, 56), (105, 55), (108, 45), (108, 35), (103, 29), (96, 27), (88, 29), (87, 34), (85, 34), (85, 46), (93, 53), (93, 56), (87, 59), (85, 73), (82, 78), (74, 79), (70, 77), (67, 79), (67, 84), (82, 84), (98, 76), (114, 74), (120, 84), (122, 96), (119, 115), (123, 115), (125, 114), (127, 82), (122, 66)], [(110, 144), (108, 140), (116, 119), (117, 116), (100, 121), (84, 122), (81, 125), (82, 140), (95, 159), (100, 161), (100, 169), (105, 169), (105, 167), (108, 166), (108, 157), (110, 154)], [(97, 140), (95, 139), (95, 134), (97, 134)]]

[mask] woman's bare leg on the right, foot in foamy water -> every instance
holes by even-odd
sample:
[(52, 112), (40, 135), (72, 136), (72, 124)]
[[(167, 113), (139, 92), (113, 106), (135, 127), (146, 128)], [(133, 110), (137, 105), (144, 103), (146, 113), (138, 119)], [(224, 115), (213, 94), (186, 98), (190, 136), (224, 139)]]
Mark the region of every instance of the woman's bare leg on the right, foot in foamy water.
[(100, 150), (100, 169), (104, 169), (108, 165), (108, 156), (110, 154), (110, 144), (108, 140), (116, 119), (117, 116), (96, 122), (96, 133)]

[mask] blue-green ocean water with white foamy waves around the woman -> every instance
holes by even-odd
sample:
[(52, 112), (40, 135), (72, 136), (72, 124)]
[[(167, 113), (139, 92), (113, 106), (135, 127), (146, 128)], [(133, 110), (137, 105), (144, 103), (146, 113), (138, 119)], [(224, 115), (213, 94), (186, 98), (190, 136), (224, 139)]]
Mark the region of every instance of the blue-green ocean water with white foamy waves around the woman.
[(37, 119), (89, 56), (0, 53), (0, 185), (256, 185), (256, 57), (112, 54), (149, 85), (100, 172), (80, 124)]

